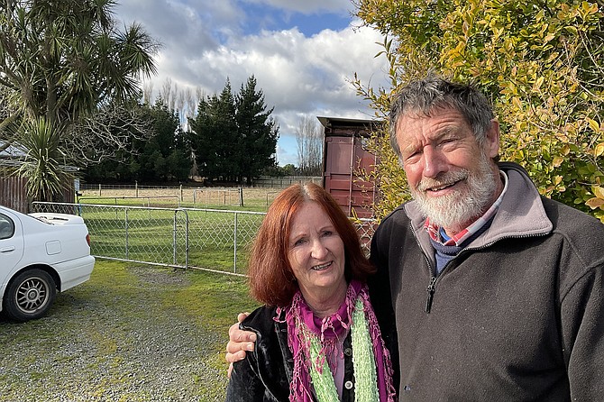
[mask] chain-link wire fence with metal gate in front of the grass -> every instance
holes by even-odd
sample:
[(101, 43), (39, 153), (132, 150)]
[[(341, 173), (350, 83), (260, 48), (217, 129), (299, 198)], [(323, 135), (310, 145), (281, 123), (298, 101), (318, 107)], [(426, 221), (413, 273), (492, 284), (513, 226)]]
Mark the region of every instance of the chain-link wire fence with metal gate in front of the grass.
[[(110, 260), (245, 275), (247, 252), (265, 213), (201, 208), (163, 208), (34, 202), (33, 212), (80, 215), (91, 253)], [(376, 223), (355, 221), (369, 252)]]

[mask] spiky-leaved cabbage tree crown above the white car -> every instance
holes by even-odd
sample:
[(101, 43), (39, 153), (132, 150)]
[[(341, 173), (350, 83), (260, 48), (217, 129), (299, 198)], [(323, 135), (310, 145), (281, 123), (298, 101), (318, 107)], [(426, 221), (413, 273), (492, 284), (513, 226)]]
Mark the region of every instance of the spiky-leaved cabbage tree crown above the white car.
[[(27, 175), (32, 194), (56, 193), (55, 185), (42, 182), (60, 178), (61, 165), (83, 165), (96, 148), (123, 145), (124, 120), (133, 117), (130, 102), (140, 97), (141, 78), (156, 72), (158, 44), (140, 24), (118, 29), (114, 5), (0, 1), (0, 100), (8, 111), (0, 122), (0, 147), (26, 148), (19, 174)], [(107, 108), (113, 119), (99, 115)], [(116, 128), (82, 130), (97, 118)], [(46, 148), (33, 150), (36, 144)]]

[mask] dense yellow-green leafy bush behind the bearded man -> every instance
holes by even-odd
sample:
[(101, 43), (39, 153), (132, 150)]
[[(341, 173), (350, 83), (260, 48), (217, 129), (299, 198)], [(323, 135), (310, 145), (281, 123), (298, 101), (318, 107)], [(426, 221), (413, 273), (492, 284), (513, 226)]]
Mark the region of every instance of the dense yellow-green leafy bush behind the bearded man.
[[(603, 11), (593, 1), (361, 0), (358, 15), (386, 35), (380, 54), (389, 59), (391, 87), (354, 84), (383, 117), (390, 93), (428, 70), (474, 83), (498, 114), (502, 160), (523, 165), (541, 194), (604, 222)], [(380, 165), (397, 163), (388, 141), (375, 147)], [(407, 197), (380, 189), (379, 215)]]

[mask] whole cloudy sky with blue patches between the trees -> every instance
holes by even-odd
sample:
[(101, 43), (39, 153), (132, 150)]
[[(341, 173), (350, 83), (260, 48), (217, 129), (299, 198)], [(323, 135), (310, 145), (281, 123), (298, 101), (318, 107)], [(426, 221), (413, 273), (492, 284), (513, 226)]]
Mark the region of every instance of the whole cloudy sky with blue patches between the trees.
[(142, 23), (162, 44), (155, 92), (233, 92), (254, 75), (279, 122), (280, 166), (297, 165), (295, 131), (304, 116), (371, 118), (350, 81), (386, 85), (378, 32), (361, 27), (351, 0), (118, 0), (115, 17)]

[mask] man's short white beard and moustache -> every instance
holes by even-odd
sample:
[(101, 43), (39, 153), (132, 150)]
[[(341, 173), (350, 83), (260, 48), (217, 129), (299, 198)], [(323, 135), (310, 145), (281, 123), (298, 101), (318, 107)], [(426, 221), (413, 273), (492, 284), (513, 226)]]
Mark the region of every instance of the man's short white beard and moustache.
[[(467, 179), (465, 191), (447, 196), (426, 196), (427, 188), (444, 187)], [(477, 169), (471, 172), (460, 169), (439, 174), (436, 178), (424, 178), (411, 189), (417, 206), (432, 224), (454, 231), (462, 231), (489, 209), (497, 190), (497, 180), (486, 155), (480, 157)]]

